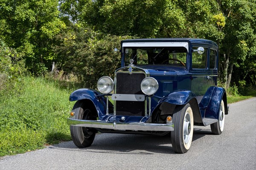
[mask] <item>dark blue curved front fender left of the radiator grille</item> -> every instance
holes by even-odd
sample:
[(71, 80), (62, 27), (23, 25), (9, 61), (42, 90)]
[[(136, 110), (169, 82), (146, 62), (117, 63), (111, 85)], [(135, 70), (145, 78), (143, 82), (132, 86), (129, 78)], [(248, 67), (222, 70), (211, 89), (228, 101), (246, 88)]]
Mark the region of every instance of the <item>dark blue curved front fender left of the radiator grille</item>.
[[(70, 101), (76, 101), (76, 100), (90, 100), (93, 105), (96, 108), (96, 111), (98, 113), (98, 116), (101, 117), (103, 115), (106, 114), (106, 98), (103, 96), (97, 96), (100, 95), (100, 93), (98, 91), (95, 91), (93, 89), (88, 89), (88, 88), (81, 88), (78, 89), (76, 91), (73, 91), (70, 94)], [(111, 103), (109, 102), (109, 105), (111, 105)]]

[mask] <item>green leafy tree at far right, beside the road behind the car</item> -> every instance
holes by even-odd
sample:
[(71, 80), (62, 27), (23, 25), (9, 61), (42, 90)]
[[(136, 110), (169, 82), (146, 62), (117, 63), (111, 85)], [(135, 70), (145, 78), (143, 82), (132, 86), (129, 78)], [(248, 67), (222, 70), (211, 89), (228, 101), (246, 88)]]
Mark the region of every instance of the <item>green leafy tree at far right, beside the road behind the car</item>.
[[(256, 50), (256, 3), (249, 0), (220, 1), (220, 9), (226, 17), (224, 40), (220, 51), (223, 56), (223, 74), (226, 88), (230, 87), (233, 66), (244, 65)], [(238, 64), (239, 62), (239, 64)], [(255, 63), (255, 59), (253, 61)]]

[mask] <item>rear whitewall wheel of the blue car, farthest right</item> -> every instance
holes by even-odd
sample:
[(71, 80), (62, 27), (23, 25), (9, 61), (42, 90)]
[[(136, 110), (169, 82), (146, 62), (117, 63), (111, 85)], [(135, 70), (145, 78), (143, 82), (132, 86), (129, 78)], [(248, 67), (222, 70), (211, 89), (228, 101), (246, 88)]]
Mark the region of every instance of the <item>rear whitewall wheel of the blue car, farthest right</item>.
[(225, 108), (224, 108), (224, 102), (223, 100), (221, 100), (218, 122), (211, 125), (212, 133), (215, 135), (220, 135), (224, 130), (224, 122), (225, 122)]

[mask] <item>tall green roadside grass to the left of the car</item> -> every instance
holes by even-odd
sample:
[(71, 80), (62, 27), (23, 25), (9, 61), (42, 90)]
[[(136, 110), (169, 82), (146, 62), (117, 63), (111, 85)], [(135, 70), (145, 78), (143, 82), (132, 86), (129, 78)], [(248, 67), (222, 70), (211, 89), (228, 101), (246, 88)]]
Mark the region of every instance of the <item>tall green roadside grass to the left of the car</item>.
[[(0, 156), (70, 140), (66, 123), (75, 88), (42, 77), (25, 77), (23, 90), (0, 99)], [(14, 93), (15, 94), (15, 93)]]

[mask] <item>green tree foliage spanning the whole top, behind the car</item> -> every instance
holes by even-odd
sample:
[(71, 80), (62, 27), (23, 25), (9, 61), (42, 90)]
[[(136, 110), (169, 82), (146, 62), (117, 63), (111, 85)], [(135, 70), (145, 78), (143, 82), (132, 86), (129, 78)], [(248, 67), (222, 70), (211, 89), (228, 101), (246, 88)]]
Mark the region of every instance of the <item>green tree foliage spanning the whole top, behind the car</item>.
[(219, 45), (227, 88), (256, 82), (255, 0), (0, 0), (0, 9), (0, 38), (36, 74), (55, 61), (93, 84), (118, 65), (119, 36), (196, 37)]

